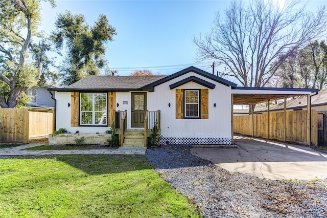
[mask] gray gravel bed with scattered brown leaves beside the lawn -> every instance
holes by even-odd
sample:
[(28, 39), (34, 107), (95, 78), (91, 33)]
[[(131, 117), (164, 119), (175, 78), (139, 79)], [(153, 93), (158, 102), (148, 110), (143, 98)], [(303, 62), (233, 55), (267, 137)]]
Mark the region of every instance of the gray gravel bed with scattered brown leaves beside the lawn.
[(146, 157), (203, 217), (327, 217), (327, 180), (271, 181), (229, 172), (193, 156), (191, 148), (162, 145)]

